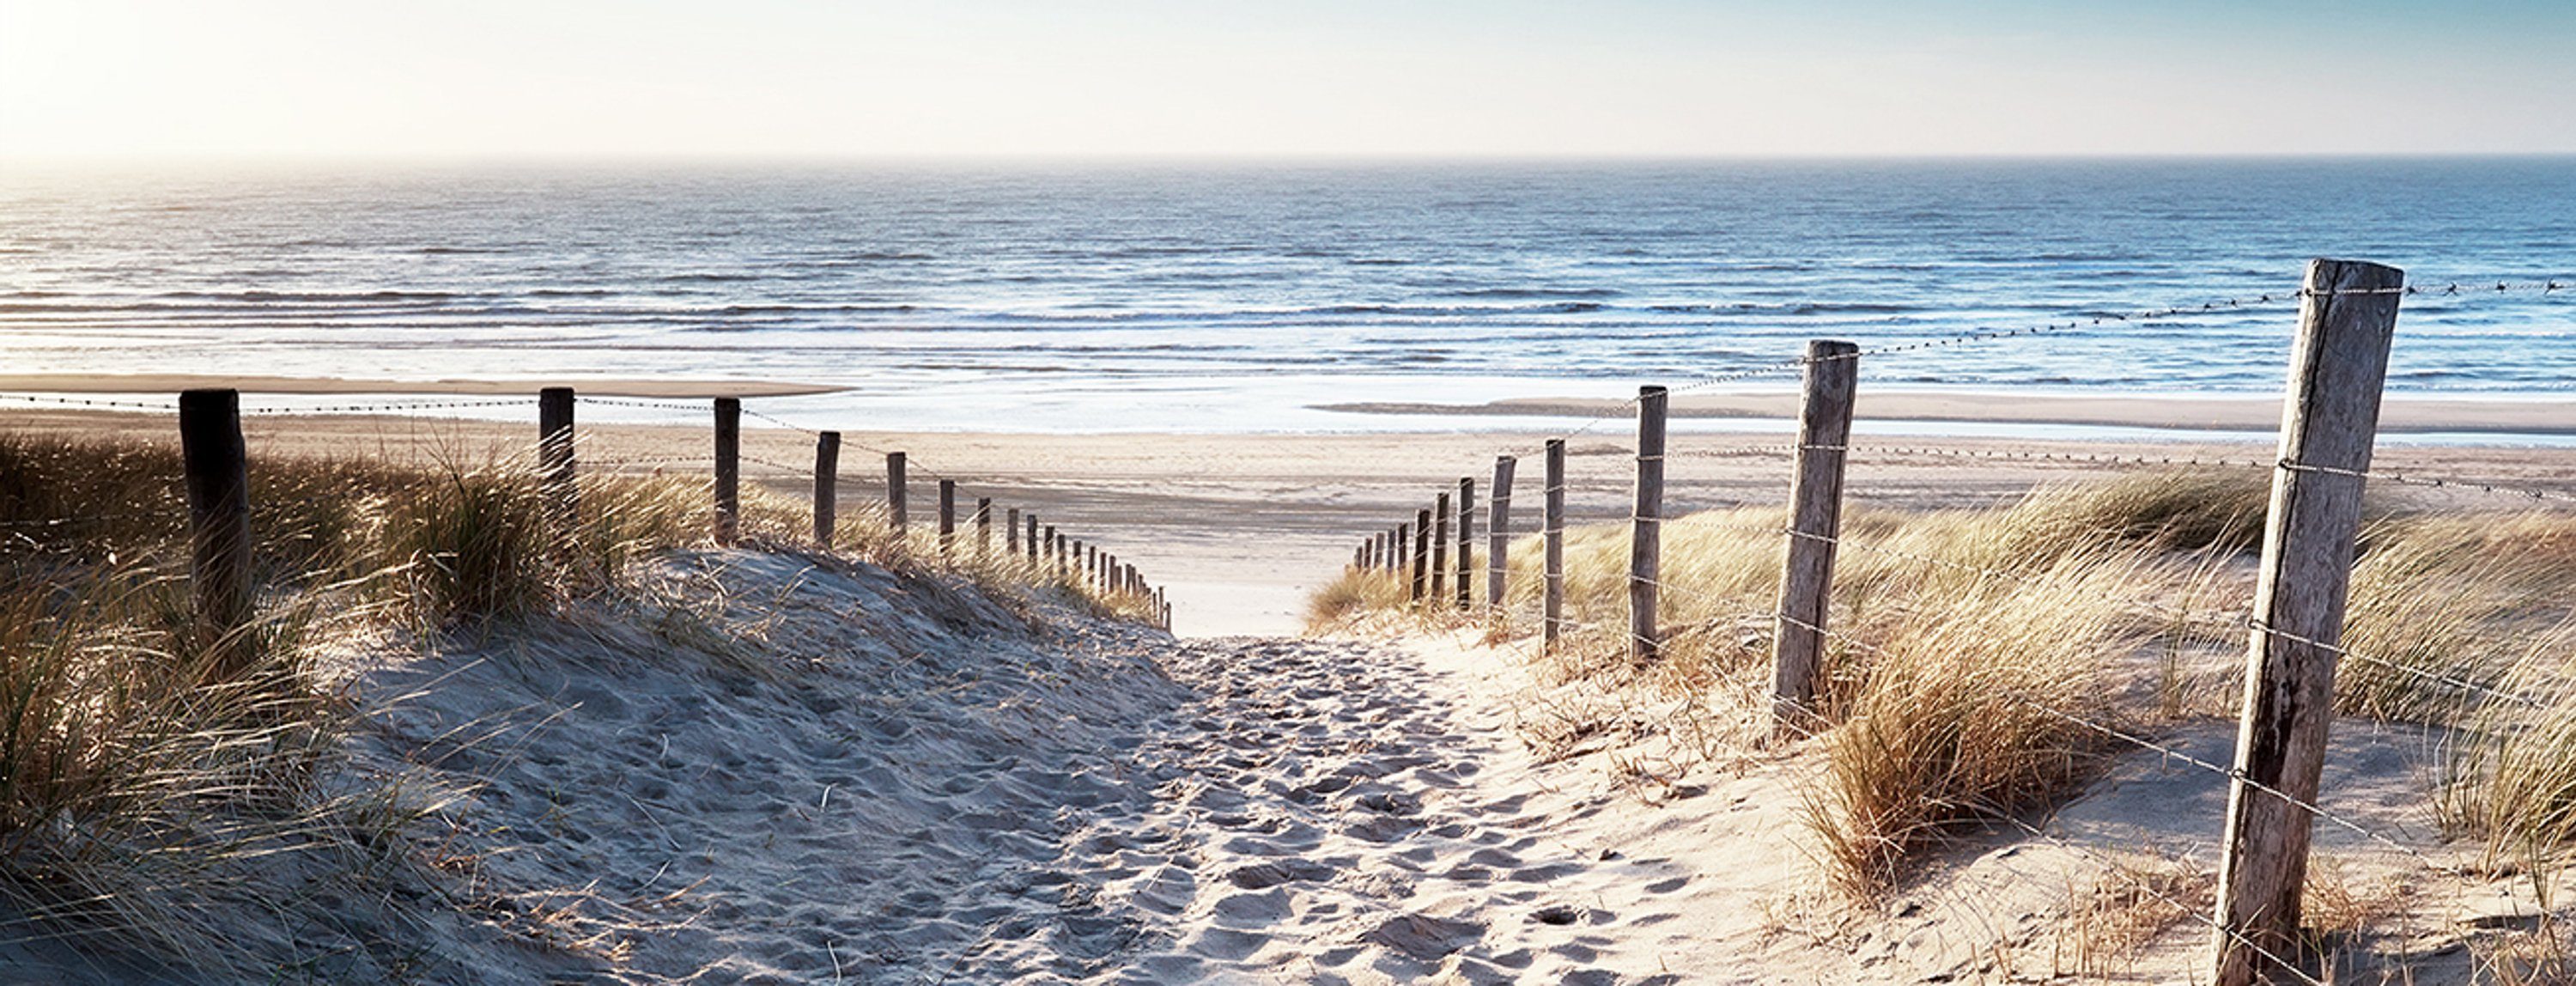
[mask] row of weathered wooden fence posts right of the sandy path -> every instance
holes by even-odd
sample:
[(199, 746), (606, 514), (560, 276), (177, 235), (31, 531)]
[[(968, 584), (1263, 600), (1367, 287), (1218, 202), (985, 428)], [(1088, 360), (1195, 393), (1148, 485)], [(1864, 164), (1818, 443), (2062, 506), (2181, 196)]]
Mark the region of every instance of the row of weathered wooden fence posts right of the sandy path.
[[(2313, 260), (2300, 291), (2298, 340), (2290, 353), (2282, 407), (2280, 463), (2272, 471), (2272, 510), (2264, 523), (2262, 574), (2246, 654), (2244, 713), (2228, 785), (2223, 857), (2218, 870), (2215, 983), (2246, 986), (2277, 978), (2306, 981), (2285, 968), (2300, 955), (2300, 886), (2313, 834), (2311, 808), (2334, 718), (2334, 669), (2344, 597), (2362, 517), (2362, 481), (2378, 438), (2380, 391), (2396, 332), (2406, 275), (2357, 260)], [(1852, 399), (1860, 348), (1811, 340), (1803, 360), (1798, 445), (1790, 471), (1790, 510), (1780, 564), (1772, 633), (1772, 731), (1798, 736), (1821, 726), (1814, 711), (1824, 667), (1834, 546), (1842, 538), (1844, 453), (1852, 435)], [(1667, 391), (1638, 389), (1636, 502), (1628, 553), (1628, 651), (1654, 659), (1662, 646), (1656, 590), (1664, 523), (1664, 420)], [(1512, 456), (1494, 461), (1489, 512), (1486, 608), (1504, 600), (1504, 541), (1510, 538)], [(1553, 654), (1564, 636), (1564, 489), (1566, 445), (1546, 443), (1546, 520), (1540, 649)], [(1473, 481), (1458, 481), (1432, 510), (1365, 538), (1352, 559), (1363, 572), (1409, 582), (1417, 608), (1437, 608), (1443, 584), (1440, 538), (1455, 525), (1466, 608), (1468, 528)], [(1406, 553), (1406, 546), (1412, 548)]]

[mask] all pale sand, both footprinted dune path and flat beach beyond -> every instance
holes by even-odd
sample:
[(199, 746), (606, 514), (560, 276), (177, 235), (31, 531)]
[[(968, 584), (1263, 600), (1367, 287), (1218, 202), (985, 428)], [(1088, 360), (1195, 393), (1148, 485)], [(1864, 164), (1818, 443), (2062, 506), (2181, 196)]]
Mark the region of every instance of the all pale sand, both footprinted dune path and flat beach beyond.
[[(149, 414), (15, 422), (167, 438)], [(255, 458), (453, 456), (515, 448), (531, 430), (263, 417), (250, 440)], [(587, 433), (595, 463), (703, 443), (698, 427)], [(355, 651), (348, 674), (371, 721), (355, 770), (415, 770), (464, 793), (438, 816), (456, 883), (404, 891), (459, 906), (294, 901), (289, 914), (337, 916), (278, 942), (281, 955), (368, 981), (389, 976), (368, 965), (376, 945), (402, 942), (417, 950), (404, 976), (459, 983), (2148, 983), (2205, 963), (2202, 929), (2177, 916), (2138, 953), (2069, 953), (2081, 901), (2123, 868), (2215, 862), (2223, 777), (2154, 752), (2061, 808), (2056, 839), (1971, 837), (1904, 893), (1850, 909), (1824, 891), (1801, 819), (1811, 752), (1710, 757), (1618, 729), (1535, 741), (1533, 723), (1566, 708), (1633, 698), (1546, 685), (1525, 644), (1275, 633), (1285, 610), (1273, 608), (1329, 579), (1355, 535), (1533, 435), (850, 443), (907, 448), (1115, 546), (1172, 587), (1182, 631), (1234, 620), (1273, 636), (1170, 638), (1069, 610), (1030, 620), (881, 569), (693, 551), (654, 564), (657, 620)], [(755, 430), (744, 445), (796, 463), (809, 438)], [(1736, 445), (1677, 440), (1669, 502), (1777, 502), (1785, 461)], [(1942, 445), (2007, 458), (1888, 453), (1855, 469), (1855, 497), (1965, 507), (2120, 469), (2081, 458), (2105, 448)], [(2112, 451), (2262, 469), (2244, 445)], [(1574, 453), (1579, 517), (1618, 517), (1625, 438), (1584, 435)], [(876, 469), (845, 461), (853, 476)], [(2535, 451), (2393, 448), (2383, 466), (2576, 479), (2566, 453)], [(801, 489), (791, 469), (755, 479)], [(850, 489), (855, 505), (876, 494)], [(2411, 839), (2391, 852), (2318, 826), (2321, 857), (2349, 883), (2419, 873), (2409, 852), (2450, 852), (2421, 795), (2434, 739), (2336, 734), (2326, 808)], [(2231, 741), (2223, 726), (2169, 736), (2215, 762)], [(2424, 898), (2473, 919), (2537, 914), (2514, 875)], [(2416, 983), (2465, 981), (2465, 955), (2445, 942), (2427, 932)], [(8, 955), (36, 981), (206, 981), (59, 942)]]

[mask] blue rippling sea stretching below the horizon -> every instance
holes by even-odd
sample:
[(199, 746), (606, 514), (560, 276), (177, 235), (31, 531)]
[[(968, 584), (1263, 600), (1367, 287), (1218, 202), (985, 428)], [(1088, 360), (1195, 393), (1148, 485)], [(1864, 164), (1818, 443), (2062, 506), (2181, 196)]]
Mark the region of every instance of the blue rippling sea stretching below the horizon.
[[(1546, 422), (1327, 407), (1777, 391), (1837, 337), (1865, 389), (2277, 394), (2311, 257), (2424, 288), (2391, 391), (2576, 391), (2576, 157), (10, 165), (0, 373), (809, 381), (840, 391), (752, 404), (1365, 433)], [(2048, 332), (1909, 348), (2009, 330)]]

